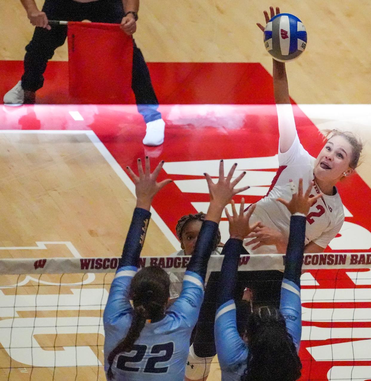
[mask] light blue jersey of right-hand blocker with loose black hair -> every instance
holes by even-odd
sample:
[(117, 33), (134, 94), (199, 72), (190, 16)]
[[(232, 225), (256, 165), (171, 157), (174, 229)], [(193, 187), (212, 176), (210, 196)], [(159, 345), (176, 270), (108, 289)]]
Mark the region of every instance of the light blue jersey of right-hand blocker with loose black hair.
[[(299, 352), (301, 339), (300, 288), (296, 283), (283, 279), (280, 312), (285, 318), (286, 329)], [(233, 299), (222, 304), (215, 315), (215, 346), (222, 371), (222, 381), (240, 381), (247, 366), (248, 346), (237, 331), (236, 306)]]

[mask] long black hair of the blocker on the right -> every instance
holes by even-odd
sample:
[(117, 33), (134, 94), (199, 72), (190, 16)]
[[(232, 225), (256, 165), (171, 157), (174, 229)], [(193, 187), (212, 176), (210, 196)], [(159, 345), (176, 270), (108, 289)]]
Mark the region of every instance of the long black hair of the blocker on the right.
[(241, 381), (296, 381), (302, 364), (285, 319), (275, 307), (254, 309), (246, 326), (249, 355)]

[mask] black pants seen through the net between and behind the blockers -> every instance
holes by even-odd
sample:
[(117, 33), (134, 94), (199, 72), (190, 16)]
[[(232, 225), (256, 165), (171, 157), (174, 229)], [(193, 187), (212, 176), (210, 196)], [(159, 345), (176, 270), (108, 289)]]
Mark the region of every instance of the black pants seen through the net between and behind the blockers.
[[(205, 296), (198, 316), (197, 325), (193, 332), (193, 350), (198, 357), (216, 355), (214, 342), (214, 320), (217, 298), (220, 287), (220, 272), (212, 272), (205, 288)], [(239, 271), (234, 299), (240, 301), (245, 288), (253, 293), (254, 306), (280, 307), (281, 284), (283, 272), (269, 271)]]

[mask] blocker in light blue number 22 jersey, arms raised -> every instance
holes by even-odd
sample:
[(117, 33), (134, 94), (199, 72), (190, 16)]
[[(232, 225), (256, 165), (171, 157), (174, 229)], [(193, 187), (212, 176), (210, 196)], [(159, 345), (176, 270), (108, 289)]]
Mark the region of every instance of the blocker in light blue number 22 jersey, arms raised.
[(137, 272), (152, 199), (171, 181), (156, 182), (162, 165), (163, 162), (159, 163), (151, 174), (149, 158), (146, 157), (145, 172), (138, 159), (139, 176), (128, 167), (135, 183), (137, 203), (103, 316), (104, 370), (109, 380), (184, 380), (190, 335), (203, 301), (207, 264), (221, 214), (233, 195), (248, 188), (234, 189), (246, 173), (231, 181), (237, 164), (224, 178), (221, 160), (217, 184), (205, 174), (210, 207), (187, 266), (181, 294), (166, 308), (170, 297), (168, 274), (160, 267), (146, 267)]

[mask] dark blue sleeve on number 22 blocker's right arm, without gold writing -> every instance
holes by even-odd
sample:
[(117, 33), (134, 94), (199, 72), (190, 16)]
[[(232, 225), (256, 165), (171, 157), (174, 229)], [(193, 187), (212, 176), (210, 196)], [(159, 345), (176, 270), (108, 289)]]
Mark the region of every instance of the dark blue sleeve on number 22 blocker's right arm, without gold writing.
[(218, 230), (218, 224), (213, 221), (203, 221), (193, 255), (188, 263), (187, 271), (193, 271), (205, 282), (207, 264), (213, 251), (213, 238)]

